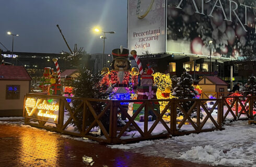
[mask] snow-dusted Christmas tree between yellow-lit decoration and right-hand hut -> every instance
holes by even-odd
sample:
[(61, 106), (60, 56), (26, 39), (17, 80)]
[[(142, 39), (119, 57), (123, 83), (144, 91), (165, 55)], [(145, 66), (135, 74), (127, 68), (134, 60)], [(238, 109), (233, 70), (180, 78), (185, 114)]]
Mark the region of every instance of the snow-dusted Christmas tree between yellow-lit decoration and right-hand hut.
[[(173, 89), (172, 96), (177, 97), (178, 99), (194, 99), (197, 92), (194, 90), (194, 87), (192, 86), (193, 81), (194, 79), (191, 77), (190, 74), (188, 74), (187, 72), (183, 73), (181, 75), (179, 82), (177, 83), (177, 86)], [(180, 102), (185, 112), (189, 111), (193, 103), (193, 101)], [(190, 115), (192, 118), (196, 117), (196, 114), (193, 114), (194, 112), (196, 112), (196, 108), (192, 111), (192, 114)], [(180, 109), (177, 109), (177, 114), (178, 116), (183, 116)]]

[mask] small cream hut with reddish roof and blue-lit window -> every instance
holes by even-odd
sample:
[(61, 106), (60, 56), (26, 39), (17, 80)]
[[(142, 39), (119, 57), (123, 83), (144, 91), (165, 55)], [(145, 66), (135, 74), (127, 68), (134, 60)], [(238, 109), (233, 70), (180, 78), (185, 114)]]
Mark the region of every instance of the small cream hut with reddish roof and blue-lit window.
[(25, 67), (0, 66), (0, 116), (22, 116), (23, 101), (32, 78)]

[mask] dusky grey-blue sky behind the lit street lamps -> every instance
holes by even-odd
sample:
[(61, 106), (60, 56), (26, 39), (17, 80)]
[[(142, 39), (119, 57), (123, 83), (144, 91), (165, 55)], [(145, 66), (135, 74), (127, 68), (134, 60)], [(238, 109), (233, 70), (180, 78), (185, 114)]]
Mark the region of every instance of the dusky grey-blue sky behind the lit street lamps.
[[(127, 47), (127, 1), (126, 0), (8, 0), (1, 1), (0, 42), (11, 51), (12, 37), (14, 52), (60, 53), (68, 51), (58, 24), (71, 49), (77, 43), (87, 53), (102, 53), (102, 33), (106, 34), (105, 53), (123, 45)], [(0, 45), (4, 51), (6, 49)]]

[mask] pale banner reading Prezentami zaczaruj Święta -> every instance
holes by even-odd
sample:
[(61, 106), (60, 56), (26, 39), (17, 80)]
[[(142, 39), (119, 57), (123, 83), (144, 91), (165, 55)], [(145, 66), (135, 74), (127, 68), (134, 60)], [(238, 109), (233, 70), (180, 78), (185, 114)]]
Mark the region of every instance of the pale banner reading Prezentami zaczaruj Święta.
[(165, 0), (128, 0), (128, 48), (137, 55), (165, 52)]

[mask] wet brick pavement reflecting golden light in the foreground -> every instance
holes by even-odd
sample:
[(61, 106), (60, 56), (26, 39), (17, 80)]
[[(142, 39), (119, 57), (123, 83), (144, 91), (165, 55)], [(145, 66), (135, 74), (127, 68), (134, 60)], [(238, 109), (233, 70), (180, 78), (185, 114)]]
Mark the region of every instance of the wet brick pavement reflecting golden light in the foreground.
[(0, 150), (0, 166), (209, 166), (146, 157), (46, 130), (6, 124), (0, 124)]

